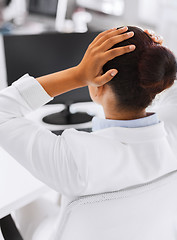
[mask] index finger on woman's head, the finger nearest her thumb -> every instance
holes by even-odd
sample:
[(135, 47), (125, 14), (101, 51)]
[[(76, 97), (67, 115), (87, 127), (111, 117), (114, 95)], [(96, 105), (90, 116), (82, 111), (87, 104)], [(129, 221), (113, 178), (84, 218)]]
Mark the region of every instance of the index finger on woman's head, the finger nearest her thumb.
[(105, 53), (104, 62), (110, 61), (111, 59), (124, 55), (126, 53), (130, 53), (136, 49), (135, 45), (128, 45), (125, 47), (114, 48)]

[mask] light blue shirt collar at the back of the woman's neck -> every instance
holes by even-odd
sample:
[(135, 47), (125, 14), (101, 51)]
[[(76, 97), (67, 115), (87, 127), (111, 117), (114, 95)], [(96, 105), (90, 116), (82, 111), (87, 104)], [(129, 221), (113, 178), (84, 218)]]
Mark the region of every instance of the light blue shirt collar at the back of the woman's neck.
[(159, 123), (156, 113), (144, 118), (134, 120), (111, 120), (94, 117), (92, 119), (92, 131), (101, 130), (110, 127), (125, 127), (125, 128), (139, 128), (147, 127)]

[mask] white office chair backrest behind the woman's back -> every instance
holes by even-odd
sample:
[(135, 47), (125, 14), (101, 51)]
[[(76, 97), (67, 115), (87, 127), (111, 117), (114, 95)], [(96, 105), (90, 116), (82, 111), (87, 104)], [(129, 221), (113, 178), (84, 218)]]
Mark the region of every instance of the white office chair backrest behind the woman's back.
[[(164, 227), (169, 235), (172, 223), (168, 221), (172, 220), (168, 214), (174, 208), (170, 206), (177, 205), (176, 186), (177, 171), (174, 171), (143, 185), (80, 197), (66, 207), (56, 239), (159, 239), (159, 229)], [(177, 210), (173, 221), (176, 216)], [(159, 218), (162, 222), (158, 222)], [(139, 228), (143, 229), (143, 235), (139, 233)]]

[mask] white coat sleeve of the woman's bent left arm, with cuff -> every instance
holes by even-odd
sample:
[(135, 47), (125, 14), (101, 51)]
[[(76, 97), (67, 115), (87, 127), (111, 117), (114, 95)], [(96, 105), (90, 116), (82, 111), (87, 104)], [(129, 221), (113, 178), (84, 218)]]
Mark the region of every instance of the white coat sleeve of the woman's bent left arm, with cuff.
[(50, 100), (38, 81), (28, 74), (3, 89), (0, 92), (0, 145), (48, 186), (67, 196), (79, 195), (85, 182), (78, 173), (65, 133), (56, 136), (24, 117)]

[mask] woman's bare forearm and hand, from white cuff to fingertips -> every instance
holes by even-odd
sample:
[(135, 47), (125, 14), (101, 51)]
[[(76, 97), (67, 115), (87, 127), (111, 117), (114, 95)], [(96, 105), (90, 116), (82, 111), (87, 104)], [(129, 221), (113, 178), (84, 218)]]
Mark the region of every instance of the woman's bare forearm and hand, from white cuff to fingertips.
[(76, 67), (37, 78), (38, 82), (51, 96), (85, 86), (102, 86), (111, 81), (117, 69), (110, 69), (102, 74), (104, 64), (123, 54), (131, 54), (135, 45), (125, 45), (112, 49), (116, 43), (123, 42), (134, 36), (127, 32), (128, 28), (110, 29), (100, 33), (89, 45), (82, 61)]

